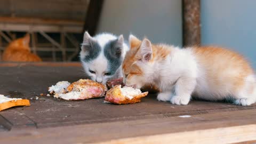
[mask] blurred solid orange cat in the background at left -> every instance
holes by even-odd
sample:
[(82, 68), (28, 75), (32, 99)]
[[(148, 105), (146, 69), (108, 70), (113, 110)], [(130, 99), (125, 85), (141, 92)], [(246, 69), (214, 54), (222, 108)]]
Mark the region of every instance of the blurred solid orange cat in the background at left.
[(29, 42), (29, 34), (26, 34), (24, 37), (15, 39), (6, 47), (2, 60), (16, 62), (42, 61), (41, 58), (39, 58), (36, 54), (30, 52)]

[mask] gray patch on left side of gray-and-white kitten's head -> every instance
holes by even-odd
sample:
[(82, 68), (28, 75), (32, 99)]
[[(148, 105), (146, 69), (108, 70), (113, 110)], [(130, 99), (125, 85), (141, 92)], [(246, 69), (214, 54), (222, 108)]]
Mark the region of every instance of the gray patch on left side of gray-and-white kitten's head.
[(82, 45), (82, 51), (86, 51), (87, 54), (84, 58), (81, 58), (84, 62), (89, 62), (96, 59), (100, 54), (100, 45), (97, 42), (91, 41), (90, 45)]

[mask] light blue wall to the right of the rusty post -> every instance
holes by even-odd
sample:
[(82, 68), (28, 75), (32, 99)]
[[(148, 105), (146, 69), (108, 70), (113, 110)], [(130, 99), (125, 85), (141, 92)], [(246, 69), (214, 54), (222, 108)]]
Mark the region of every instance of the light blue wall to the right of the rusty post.
[(202, 44), (229, 47), (256, 69), (256, 1), (202, 0)]

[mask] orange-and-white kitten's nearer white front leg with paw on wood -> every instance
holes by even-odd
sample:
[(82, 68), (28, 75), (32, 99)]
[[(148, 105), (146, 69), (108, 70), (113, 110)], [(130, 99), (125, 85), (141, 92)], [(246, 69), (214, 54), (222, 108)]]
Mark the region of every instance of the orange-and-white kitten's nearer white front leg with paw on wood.
[(180, 77), (175, 85), (176, 95), (171, 98), (171, 103), (175, 105), (188, 105), (195, 86), (195, 78)]

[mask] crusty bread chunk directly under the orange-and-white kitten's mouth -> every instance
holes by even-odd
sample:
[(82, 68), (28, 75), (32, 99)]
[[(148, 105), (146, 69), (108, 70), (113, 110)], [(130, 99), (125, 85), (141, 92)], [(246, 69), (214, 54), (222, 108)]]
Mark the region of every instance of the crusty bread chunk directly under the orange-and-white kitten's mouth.
[(141, 93), (139, 89), (133, 89), (133, 87), (124, 86), (122, 88), (121, 85), (116, 85), (107, 91), (105, 101), (118, 105), (136, 103), (140, 102), (140, 99), (146, 97), (147, 94), (148, 92)]

